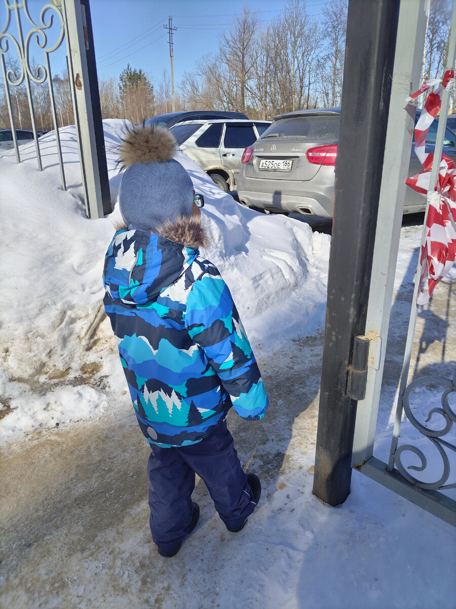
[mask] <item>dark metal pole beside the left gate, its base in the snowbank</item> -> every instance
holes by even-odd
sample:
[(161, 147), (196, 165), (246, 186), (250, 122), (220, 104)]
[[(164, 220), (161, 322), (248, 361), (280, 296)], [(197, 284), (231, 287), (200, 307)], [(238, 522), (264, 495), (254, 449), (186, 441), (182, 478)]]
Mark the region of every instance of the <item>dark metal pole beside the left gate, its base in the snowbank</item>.
[(100, 187), (102, 190), (103, 214), (112, 211), (111, 191), (109, 190), (108, 165), (106, 163), (105, 135), (103, 133), (102, 106), (100, 104), (100, 91), (98, 90), (97, 63), (95, 61), (94, 34), (92, 32), (92, 18), (89, 0), (81, 0), (85, 11), (85, 32), (87, 69), (89, 73), (90, 97), (92, 114), (94, 116), (95, 142), (97, 146), (98, 172), (100, 173)]

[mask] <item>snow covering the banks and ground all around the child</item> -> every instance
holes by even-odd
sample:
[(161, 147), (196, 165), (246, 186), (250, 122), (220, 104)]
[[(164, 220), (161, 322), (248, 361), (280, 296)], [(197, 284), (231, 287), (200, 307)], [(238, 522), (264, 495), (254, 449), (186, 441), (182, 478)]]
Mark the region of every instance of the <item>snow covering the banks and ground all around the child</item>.
[[(110, 120), (104, 125), (116, 199), (120, 177), (115, 147), (123, 124)], [(123, 450), (127, 460), (139, 454), (139, 468), (145, 470), (147, 447), (135, 428), (116, 342), (102, 308), (103, 257), (119, 211), (116, 206), (106, 219), (86, 219), (75, 130), (66, 127), (60, 133), (66, 192), (52, 134), (40, 139), (43, 172), (36, 169), (33, 143), (21, 147), (21, 164), (15, 163), (13, 152), (0, 159), (2, 454), (12, 459), (21, 451), (36, 451), (51, 480), (46, 438), (53, 447), (71, 438), (82, 443), (81, 438), (105, 429), (113, 437), (116, 426), (120, 436), (105, 449), (110, 458), (105, 455), (98, 462), (93, 457), (95, 470), (116, 476), (116, 468), (123, 471)], [(241, 460), (257, 468), (263, 480), (260, 505), (243, 532), (229, 535), (204, 485), (198, 484), (200, 523), (178, 556), (164, 561), (150, 541), (145, 496), (128, 503), (137, 482), (122, 477), (120, 497), (114, 504), (109, 499), (114, 505), (111, 526), (95, 520), (96, 534), (86, 546), (78, 546), (74, 535), (87, 535), (91, 516), (78, 522), (77, 533), (73, 523), (64, 529), (72, 540), (68, 546), (47, 525), (43, 541), (30, 550), (30, 572), (38, 562), (40, 583), (22, 573), (29, 558), (21, 554), (20, 543), (10, 543), (0, 569), (20, 571), (21, 576), (8, 579), (0, 571), (5, 606), (456, 607), (451, 526), (356, 472), (350, 496), (340, 507), (330, 508), (311, 494), (330, 236), (296, 219), (243, 208), (183, 153), (176, 158), (191, 175), (195, 191), (204, 194), (203, 217), (212, 244), (202, 253), (232, 291), (271, 398), (263, 421), (229, 420)], [(395, 295), (410, 288), (420, 235), (420, 226), (402, 228)], [(447, 280), (449, 293), (455, 276), (452, 272)], [(397, 298), (395, 306), (398, 315), (408, 315), (406, 302)], [(454, 351), (447, 351), (440, 359), (451, 378)], [(391, 361), (398, 358), (392, 351)], [(434, 365), (432, 359), (429, 365)], [(382, 393), (376, 443), (382, 459), (389, 450), (396, 392), (397, 384), (391, 382)], [(435, 400), (429, 388), (421, 392), (426, 401)], [(39, 433), (43, 430), (44, 435)], [(414, 437), (413, 431), (401, 436), (404, 442)], [(60, 453), (53, 454), (58, 459)], [(436, 462), (431, 471), (437, 470)], [(74, 486), (73, 478), (82, 495), (91, 490), (89, 505), (105, 492), (102, 482), (97, 487), (86, 472), (69, 476)], [(43, 505), (54, 495), (58, 503), (59, 492), (63, 498), (63, 488), (69, 488), (66, 482), (61, 491), (46, 484), (42, 492), (49, 496), (43, 495)], [(32, 493), (38, 501), (40, 491)], [(106, 491), (106, 501), (112, 493)], [(28, 501), (24, 496), (22, 505)], [(128, 509), (124, 505), (116, 511), (122, 501)], [(15, 518), (12, 514), (9, 522)], [(66, 526), (61, 513), (54, 515), (52, 530), (56, 518), (59, 526)], [(9, 565), (15, 568), (8, 571)]]

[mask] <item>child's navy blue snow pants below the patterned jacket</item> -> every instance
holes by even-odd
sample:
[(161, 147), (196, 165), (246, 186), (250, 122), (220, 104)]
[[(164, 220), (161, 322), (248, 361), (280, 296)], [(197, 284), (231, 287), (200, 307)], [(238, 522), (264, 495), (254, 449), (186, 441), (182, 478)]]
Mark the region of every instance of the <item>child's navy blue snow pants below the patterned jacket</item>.
[(166, 551), (173, 550), (187, 535), (195, 473), (206, 483), (215, 509), (230, 529), (240, 526), (255, 509), (226, 421), (197, 444), (171, 448), (152, 445), (147, 466), (150, 530), (157, 546)]

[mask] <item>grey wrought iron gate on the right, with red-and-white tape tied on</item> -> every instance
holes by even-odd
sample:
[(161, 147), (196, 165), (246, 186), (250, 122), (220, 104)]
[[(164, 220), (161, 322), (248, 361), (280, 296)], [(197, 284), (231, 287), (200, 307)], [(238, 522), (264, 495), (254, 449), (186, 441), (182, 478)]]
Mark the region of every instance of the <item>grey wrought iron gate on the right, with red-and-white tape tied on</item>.
[[(385, 487), (392, 489), (399, 495), (404, 496), (439, 518), (456, 526), (456, 501), (442, 492), (449, 488), (456, 488), (456, 484), (449, 482), (451, 469), (453, 475), (456, 473), (454, 459), (456, 446), (449, 442), (448, 435), (453, 424), (456, 422), (454, 406), (452, 407), (450, 402), (450, 398), (456, 395), (456, 370), (453, 378), (424, 376), (413, 379), (412, 382), (407, 384), (418, 315), (418, 306), (416, 305), (420, 283), (418, 280), (415, 281), (415, 291), (411, 303), (410, 323), (402, 365), (389, 462), (382, 462), (382, 460), (373, 456), (379, 396), (384, 371), (385, 345), (389, 330), (393, 281), (401, 229), (404, 189), (406, 188), (406, 169), (408, 167), (408, 154), (413, 129), (413, 117), (407, 114), (407, 110), (404, 108), (404, 100), (410, 94), (410, 82), (413, 83), (412, 90), (415, 90), (413, 86), (418, 85), (426, 24), (424, 12), (422, 7), (421, 9), (418, 7), (418, 4), (418, 2), (410, 3), (402, 1), (401, 12), (399, 13), (398, 40), (396, 42), (390, 100), (390, 118), (385, 144), (385, 161), (368, 297), (367, 322), (364, 337), (360, 337), (361, 340), (368, 340), (367, 385), (365, 398), (358, 400), (352, 466)], [(456, 5), (448, 49), (447, 69), (453, 69), (456, 58)], [(412, 75), (412, 77), (409, 77), (409, 75)], [(416, 86), (416, 89), (418, 88), (419, 85)], [(449, 92), (444, 91), (440, 111), (441, 118), (435, 143), (434, 164), (427, 197), (427, 210), (429, 209), (430, 198), (435, 196), (434, 187), (438, 178), (438, 166), (442, 153), (448, 106)], [(405, 164), (404, 160), (407, 161)], [(426, 219), (423, 231), (425, 227)], [(417, 275), (419, 278), (420, 267)], [(440, 387), (441, 392), (438, 396), (441, 406), (433, 407), (430, 404), (427, 419), (420, 421), (410, 407), (410, 395), (417, 387), (429, 387), (429, 384), (431, 384), (430, 386), (434, 392), (437, 392)], [(427, 438), (429, 445), (434, 445), (438, 455), (440, 455), (443, 473), (438, 476), (437, 480), (426, 480), (416, 474), (412, 475), (410, 470), (415, 472), (425, 471), (427, 460), (423, 450), (419, 446), (412, 446), (411, 444), (401, 445), (399, 432), (404, 415), (413, 427), (420, 432), (421, 437)], [(432, 417), (440, 417), (440, 425), (435, 423), (427, 424)], [(406, 452), (412, 452), (418, 456), (420, 464), (404, 466), (402, 459)]]

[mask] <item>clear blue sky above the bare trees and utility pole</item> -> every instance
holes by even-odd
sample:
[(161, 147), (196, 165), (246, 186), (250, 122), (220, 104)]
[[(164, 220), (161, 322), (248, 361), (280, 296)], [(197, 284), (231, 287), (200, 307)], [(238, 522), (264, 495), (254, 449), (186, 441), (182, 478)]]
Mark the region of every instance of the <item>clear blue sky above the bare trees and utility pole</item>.
[[(35, 23), (39, 22), (40, 10), (48, 1), (29, 0)], [(308, 13), (318, 18), (327, 1), (307, 0)], [(143, 69), (157, 84), (164, 69), (170, 72), (168, 30), (163, 26), (168, 26), (168, 16), (172, 16), (173, 27), (177, 27), (173, 32), (173, 51), (174, 83), (178, 86), (184, 72), (194, 71), (202, 55), (217, 51), (219, 38), (229, 29), (233, 16), (242, 11), (243, 5), (258, 10), (261, 24), (266, 27), (285, 4), (286, 0), (91, 0), (98, 76), (118, 78), (130, 63), (133, 68)], [(23, 22), (25, 37), (30, 26), (26, 19)], [(5, 6), (0, 2), (0, 29), (4, 23)], [(9, 31), (17, 35), (14, 20)], [(52, 39), (52, 35), (49, 38)], [(30, 48), (42, 63), (42, 52), (36, 45), (31, 44)], [(65, 57), (63, 44), (52, 54), (54, 74), (63, 71)]]

